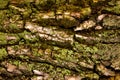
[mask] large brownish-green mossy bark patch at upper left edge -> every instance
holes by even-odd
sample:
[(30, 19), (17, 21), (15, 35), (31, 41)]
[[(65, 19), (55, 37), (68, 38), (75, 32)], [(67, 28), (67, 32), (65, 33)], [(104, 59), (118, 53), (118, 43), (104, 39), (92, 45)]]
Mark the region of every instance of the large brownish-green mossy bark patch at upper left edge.
[(23, 21), (20, 20), (20, 15), (15, 15), (10, 10), (0, 11), (0, 31), (20, 32), (23, 28)]

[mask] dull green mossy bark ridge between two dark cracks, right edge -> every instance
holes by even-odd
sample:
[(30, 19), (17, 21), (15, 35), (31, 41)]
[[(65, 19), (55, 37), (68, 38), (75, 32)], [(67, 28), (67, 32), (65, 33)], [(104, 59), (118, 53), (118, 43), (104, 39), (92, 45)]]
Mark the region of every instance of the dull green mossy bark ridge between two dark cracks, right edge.
[[(115, 28), (115, 26), (113, 27)], [(98, 42), (106, 42), (106, 43), (119, 42), (119, 30), (96, 31), (89, 33), (89, 36), (90, 35), (96, 37), (96, 41)]]

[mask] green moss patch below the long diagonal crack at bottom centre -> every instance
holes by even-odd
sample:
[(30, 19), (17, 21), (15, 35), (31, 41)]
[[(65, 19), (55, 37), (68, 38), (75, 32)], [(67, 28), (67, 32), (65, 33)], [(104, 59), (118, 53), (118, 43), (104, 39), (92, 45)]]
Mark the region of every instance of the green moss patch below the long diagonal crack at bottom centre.
[(48, 73), (50, 77), (55, 78), (55, 80), (63, 80), (65, 75), (72, 74), (72, 71), (68, 69), (54, 67), (46, 63), (37, 63), (35, 64), (34, 69)]

